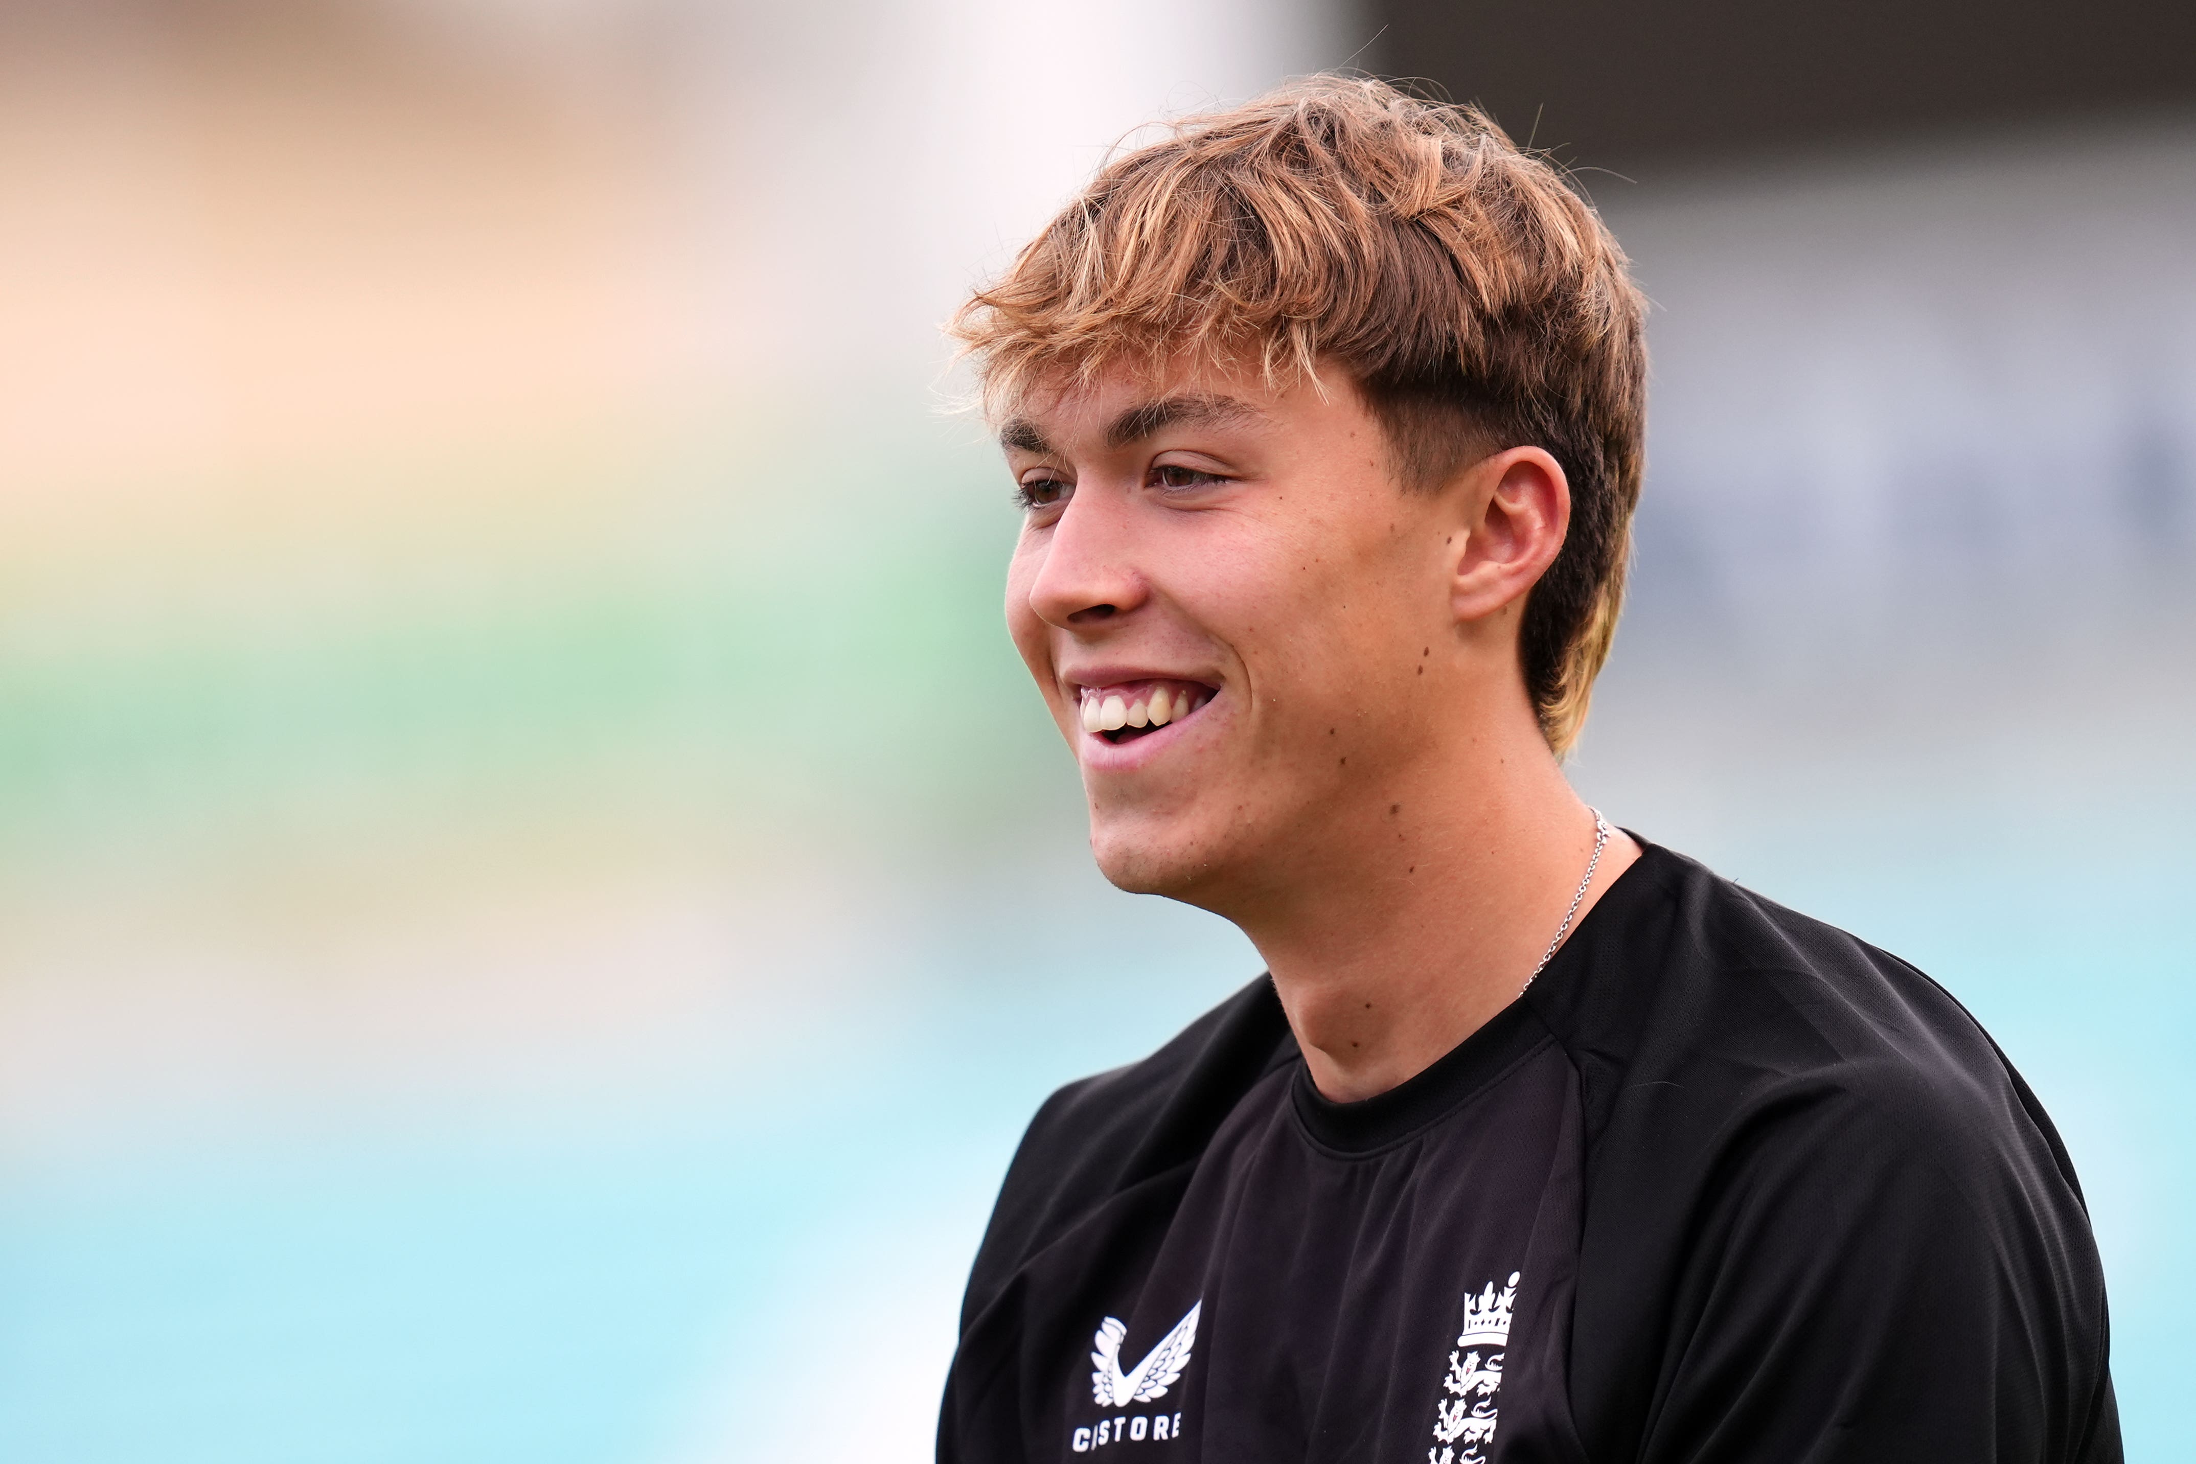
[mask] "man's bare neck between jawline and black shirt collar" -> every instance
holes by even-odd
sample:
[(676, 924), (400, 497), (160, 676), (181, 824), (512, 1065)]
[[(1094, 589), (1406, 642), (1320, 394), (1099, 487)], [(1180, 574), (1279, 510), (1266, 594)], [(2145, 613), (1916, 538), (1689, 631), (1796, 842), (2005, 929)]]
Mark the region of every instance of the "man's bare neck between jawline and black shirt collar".
[[(1320, 856), (1225, 911), (1265, 957), (1320, 1093), (1386, 1093), (1517, 999), (1594, 852), (1539, 740), (1480, 727), (1322, 827)], [(1493, 744), (1493, 746), (1491, 746)], [(1572, 928), (1638, 858), (1610, 836)]]

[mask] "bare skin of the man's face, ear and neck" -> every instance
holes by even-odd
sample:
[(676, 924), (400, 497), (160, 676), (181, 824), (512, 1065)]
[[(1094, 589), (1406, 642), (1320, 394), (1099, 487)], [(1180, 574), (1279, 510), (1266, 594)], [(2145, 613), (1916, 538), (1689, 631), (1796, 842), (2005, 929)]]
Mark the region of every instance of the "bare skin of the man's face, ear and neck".
[[(1555, 459), (1405, 492), (1340, 371), (1276, 391), (1210, 362), (1039, 393), (1001, 441), (1026, 503), (1008, 628), (1105, 876), (1241, 926), (1335, 1100), (1509, 1005), (1594, 830), (1517, 661), (1570, 514)], [(1083, 687), (1151, 680), (1214, 696), (1120, 746), (1083, 729)], [(1581, 915), (1636, 856), (1610, 841)]]

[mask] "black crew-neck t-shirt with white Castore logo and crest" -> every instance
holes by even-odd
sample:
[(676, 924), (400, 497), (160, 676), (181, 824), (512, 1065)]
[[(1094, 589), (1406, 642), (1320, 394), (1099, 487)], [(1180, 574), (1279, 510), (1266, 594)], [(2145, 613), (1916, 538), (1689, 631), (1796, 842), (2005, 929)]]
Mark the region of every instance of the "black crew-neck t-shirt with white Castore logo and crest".
[(1320, 1097), (1265, 979), (1054, 1093), (942, 1464), (2117, 1462), (2036, 1095), (1915, 968), (1643, 849), (1379, 1097)]

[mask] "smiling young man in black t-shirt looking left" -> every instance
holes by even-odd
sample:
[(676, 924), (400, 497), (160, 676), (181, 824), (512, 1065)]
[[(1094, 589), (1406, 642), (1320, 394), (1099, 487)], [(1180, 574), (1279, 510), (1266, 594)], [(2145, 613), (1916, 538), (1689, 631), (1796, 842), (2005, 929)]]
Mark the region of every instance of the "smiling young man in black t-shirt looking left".
[(1564, 779), (1640, 312), (1487, 121), (1315, 79), (1116, 160), (962, 314), (1098, 863), (1269, 975), (1039, 1111), (940, 1460), (2119, 1460), (2020, 1076)]

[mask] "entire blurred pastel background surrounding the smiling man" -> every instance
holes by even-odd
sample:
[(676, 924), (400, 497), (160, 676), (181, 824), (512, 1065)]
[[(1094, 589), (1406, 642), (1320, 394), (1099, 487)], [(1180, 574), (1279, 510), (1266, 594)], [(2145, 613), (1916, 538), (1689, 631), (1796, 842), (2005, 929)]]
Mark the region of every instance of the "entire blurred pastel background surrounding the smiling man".
[(0, 0), (0, 1457), (927, 1457), (1032, 1106), (1258, 972), (1089, 869), (935, 325), (1324, 66), (1636, 257), (1575, 779), (1990, 1025), (2178, 1455), (2189, 15)]

